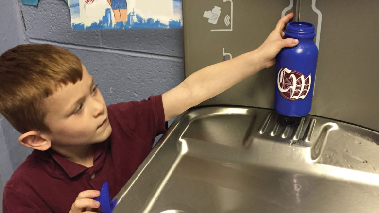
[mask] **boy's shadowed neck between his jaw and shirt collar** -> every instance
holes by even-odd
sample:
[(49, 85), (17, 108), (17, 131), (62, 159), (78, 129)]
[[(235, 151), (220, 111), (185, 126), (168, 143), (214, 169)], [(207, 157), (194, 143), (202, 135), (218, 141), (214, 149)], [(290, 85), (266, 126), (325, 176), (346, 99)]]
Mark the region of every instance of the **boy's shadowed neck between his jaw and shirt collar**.
[(52, 149), (64, 158), (86, 167), (93, 166), (93, 145), (52, 146)]

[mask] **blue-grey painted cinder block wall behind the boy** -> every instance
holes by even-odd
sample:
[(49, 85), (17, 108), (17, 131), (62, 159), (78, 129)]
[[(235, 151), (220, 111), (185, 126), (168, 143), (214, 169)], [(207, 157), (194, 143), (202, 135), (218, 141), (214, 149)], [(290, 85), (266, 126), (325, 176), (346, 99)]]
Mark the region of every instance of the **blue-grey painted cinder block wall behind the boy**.
[[(48, 43), (76, 54), (107, 104), (146, 99), (184, 80), (182, 29), (72, 31), (63, 0), (0, 2), (0, 54), (18, 44)], [(0, 115), (0, 212), (5, 182), (32, 151)]]

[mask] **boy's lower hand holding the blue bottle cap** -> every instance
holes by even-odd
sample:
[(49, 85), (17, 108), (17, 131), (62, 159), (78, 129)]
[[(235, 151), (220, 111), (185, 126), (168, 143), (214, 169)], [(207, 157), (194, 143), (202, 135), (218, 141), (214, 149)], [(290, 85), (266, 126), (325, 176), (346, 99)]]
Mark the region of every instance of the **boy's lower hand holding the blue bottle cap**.
[(69, 213), (97, 213), (97, 209), (100, 207), (100, 202), (92, 198), (98, 196), (100, 196), (100, 191), (98, 190), (86, 190), (79, 193), (75, 202), (72, 204)]

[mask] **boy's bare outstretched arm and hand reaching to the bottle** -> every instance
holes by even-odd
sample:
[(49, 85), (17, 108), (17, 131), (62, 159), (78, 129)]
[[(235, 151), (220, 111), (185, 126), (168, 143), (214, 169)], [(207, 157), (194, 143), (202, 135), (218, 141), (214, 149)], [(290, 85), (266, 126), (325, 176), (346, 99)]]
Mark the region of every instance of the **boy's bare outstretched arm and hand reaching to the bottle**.
[(273, 66), (275, 57), (282, 48), (298, 44), (297, 39), (283, 39), (283, 29), (292, 17), (293, 13), (290, 13), (281, 18), (263, 44), (254, 51), (196, 71), (164, 93), (162, 101), (166, 121), (224, 92), (259, 70)]

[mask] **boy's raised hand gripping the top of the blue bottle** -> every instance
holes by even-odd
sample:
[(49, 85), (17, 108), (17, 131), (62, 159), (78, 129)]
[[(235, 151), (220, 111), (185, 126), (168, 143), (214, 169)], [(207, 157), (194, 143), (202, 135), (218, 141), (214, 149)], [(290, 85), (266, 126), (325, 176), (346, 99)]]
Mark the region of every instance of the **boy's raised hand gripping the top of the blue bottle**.
[(269, 34), (262, 45), (257, 49), (258, 55), (261, 56), (262, 68), (269, 68), (276, 62), (275, 57), (284, 47), (294, 47), (299, 41), (293, 38), (284, 39), (284, 27), (293, 17), (293, 13), (287, 14), (276, 24), (275, 29)]

